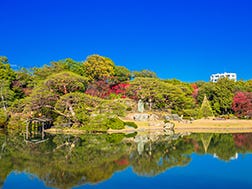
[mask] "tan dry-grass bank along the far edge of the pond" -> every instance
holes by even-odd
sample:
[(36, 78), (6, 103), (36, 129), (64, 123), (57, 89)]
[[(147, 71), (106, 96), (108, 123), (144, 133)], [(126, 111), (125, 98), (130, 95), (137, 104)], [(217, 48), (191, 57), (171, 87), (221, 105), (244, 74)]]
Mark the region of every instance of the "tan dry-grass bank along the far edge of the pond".
[[(126, 120), (125, 120), (126, 121)], [(130, 121), (130, 120), (127, 120)], [(159, 133), (166, 134), (163, 126), (149, 126), (149, 123), (162, 123), (162, 121), (135, 121), (137, 129), (127, 127), (121, 130), (109, 129), (106, 133)], [(210, 120), (200, 119), (191, 123), (173, 122), (174, 133), (252, 133), (252, 120)], [(169, 129), (168, 129), (169, 130)], [(88, 131), (81, 129), (58, 129), (46, 130), (51, 134), (85, 134)]]

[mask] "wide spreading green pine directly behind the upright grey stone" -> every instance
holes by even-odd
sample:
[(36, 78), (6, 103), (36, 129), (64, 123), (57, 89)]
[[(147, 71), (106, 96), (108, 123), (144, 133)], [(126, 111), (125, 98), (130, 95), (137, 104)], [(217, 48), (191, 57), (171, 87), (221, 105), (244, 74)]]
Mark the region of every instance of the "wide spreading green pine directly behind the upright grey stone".
[(176, 112), (192, 108), (194, 101), (187, 87), (174, 85), (156, 78), (135, 78), (127, 88), (127, 96), (145, 103), (154, 109), (172, 109)]

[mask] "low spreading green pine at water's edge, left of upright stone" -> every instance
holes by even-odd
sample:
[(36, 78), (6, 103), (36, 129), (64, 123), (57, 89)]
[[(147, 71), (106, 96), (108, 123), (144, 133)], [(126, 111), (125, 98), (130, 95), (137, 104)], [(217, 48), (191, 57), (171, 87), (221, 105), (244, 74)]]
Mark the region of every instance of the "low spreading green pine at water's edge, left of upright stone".
[[(126, 111), (126, 107), (120, 102), (103, 100), (80, 92), (73, 92), (60, 97), (55, 105), (55, 111), (64, 118), (57, 119), (58, 122), (59, 120), (70, 121), (74, 125), (85, 127), (90, 122), (96, 121), (98, 124), (96, 129), (100, 129), (108, 126), (111, 116), (112, 118), (122, 116)], [(97, 119), (97, 117), (101, 119)], [(90, 127), (93, 126), (90, 125)]]

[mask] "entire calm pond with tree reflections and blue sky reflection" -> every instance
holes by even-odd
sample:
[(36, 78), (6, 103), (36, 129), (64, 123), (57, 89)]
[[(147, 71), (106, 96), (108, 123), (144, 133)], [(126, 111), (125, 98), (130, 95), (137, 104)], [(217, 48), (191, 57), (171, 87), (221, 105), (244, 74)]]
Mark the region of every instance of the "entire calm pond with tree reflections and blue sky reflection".
[(0, 132), (0, 188), (252, 188), (252, 133), (26, 134)]

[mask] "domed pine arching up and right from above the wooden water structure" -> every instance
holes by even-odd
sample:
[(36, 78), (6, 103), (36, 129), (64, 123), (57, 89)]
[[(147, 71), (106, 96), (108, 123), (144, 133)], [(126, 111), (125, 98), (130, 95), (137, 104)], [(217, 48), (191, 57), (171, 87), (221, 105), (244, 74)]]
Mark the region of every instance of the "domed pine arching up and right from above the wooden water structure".
[[(71, 92), (84, 92), (87, 85), (87, 78), (72, 72), (61, 72), (49, 76), (41, 82), (26, 100), (25, 111), (33, 112), (33, 116), (43, 115), (54, 118), (60, 114), (55, 109), (55, 104), (61, 96)], [(71, 110), (71, 104), (67, 106)]]

